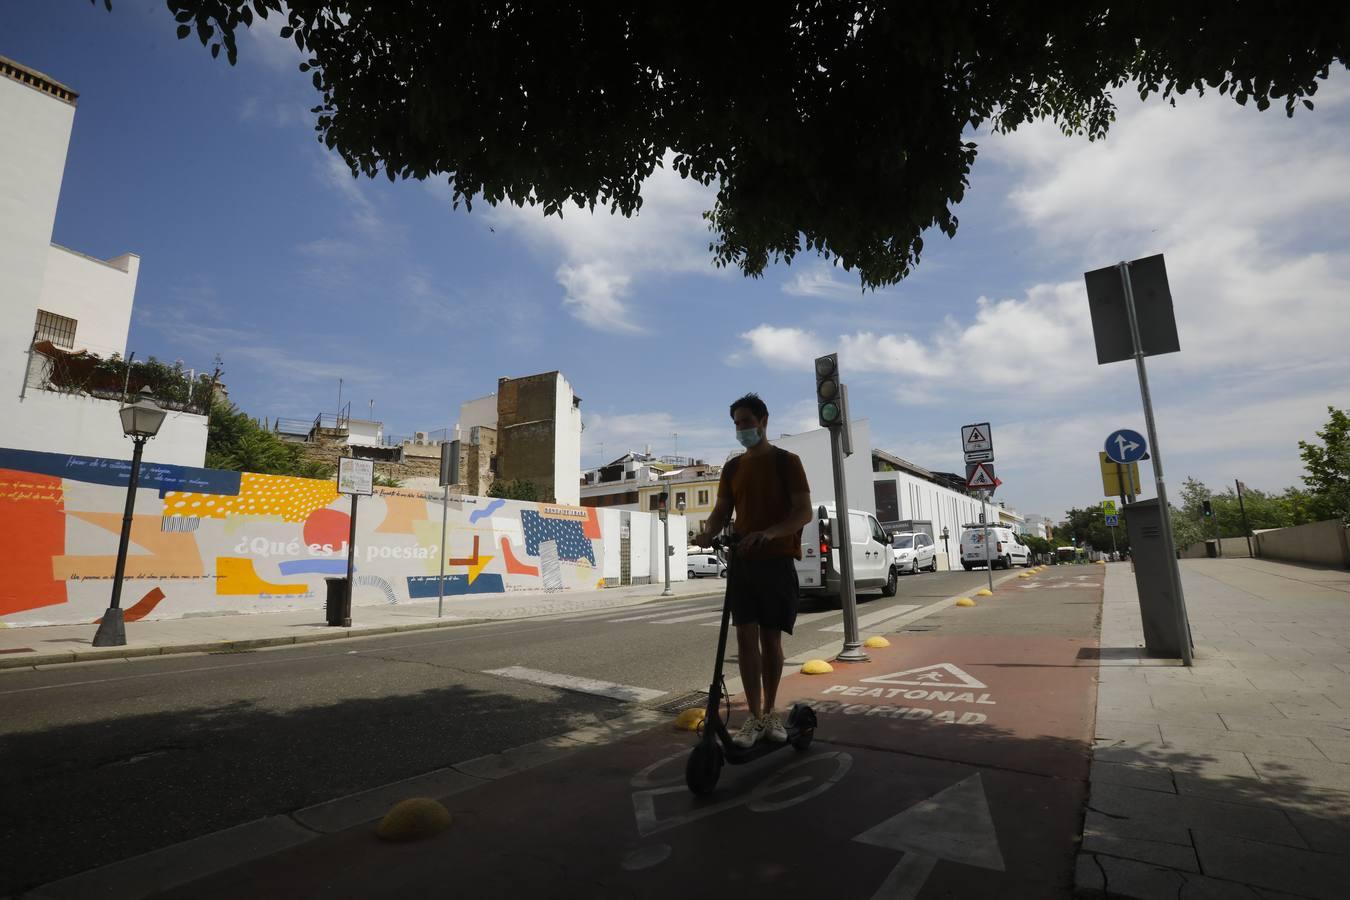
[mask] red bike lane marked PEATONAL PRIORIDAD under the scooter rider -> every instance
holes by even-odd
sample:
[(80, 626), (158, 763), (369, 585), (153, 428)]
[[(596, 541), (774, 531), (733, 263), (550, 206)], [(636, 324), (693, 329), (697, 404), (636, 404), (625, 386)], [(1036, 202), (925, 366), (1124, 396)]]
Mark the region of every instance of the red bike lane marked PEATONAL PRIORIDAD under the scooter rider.
[(167, 896), (1071, 896), (1095, 627), (1006, 631), (1019, 606), (1087, 598), (1099, 578), (1052, 572), (981, 603), (998, 636), (949, 610), (871, 663), (784, 679), (818, 711), (813, 745), (729, 765), (707, 797), (684, 787), (693, 735), (657, 727), (444, 797), (433, 838), (364, 824)]

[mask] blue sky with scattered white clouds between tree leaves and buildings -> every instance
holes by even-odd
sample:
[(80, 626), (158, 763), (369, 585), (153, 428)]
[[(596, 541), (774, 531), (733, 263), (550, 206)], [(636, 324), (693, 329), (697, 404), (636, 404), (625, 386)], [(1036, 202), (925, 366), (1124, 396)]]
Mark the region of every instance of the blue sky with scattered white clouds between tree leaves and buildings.
[(747, 390), (771, 432), (813, 426), (810, 359), (838, 349), (879, 447), (956, 471), (960, 426), (988, 420), (1000, 497), (1058, 517), (1099, 499), (1106, 434), (1143, 430), (1133, 366), (1096, 366), (1081, 273), (1156, 252), (1181, 337), (1150, 360), (1173, 491), (1295, 483), (1297, 440), (1350, 405), (1345, 73), (1293, 120), (1122, 93), (1103, 143), (977, 135), (956, 239), (861, 294), (815, 258), (714, 270), (709, 192), (666, 173), (636, 220), (466, 213), (444, 184), (352, 179), (315, 140), (293, 45), (254, 30), (231, 67), (173, 31), (161, 0), (0, 7), (0, 54), (81, 94), (54, 240), (140, 254), (130, 348), (220, 354), (258, 417), (332, 412), (342, 378), (354, 414), (374, 399), (387, 432), (433, 430), (500, 375), (558, 368), (583, 464), (644, 444), (721, 459)]

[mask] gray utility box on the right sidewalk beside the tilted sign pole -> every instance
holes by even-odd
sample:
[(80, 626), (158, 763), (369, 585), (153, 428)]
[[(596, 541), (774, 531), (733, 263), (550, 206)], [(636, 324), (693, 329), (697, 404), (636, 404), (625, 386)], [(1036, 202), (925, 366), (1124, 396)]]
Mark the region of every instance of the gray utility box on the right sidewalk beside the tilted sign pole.
[(1191, 640), (1181, 599), (1172, 590), (1176, 553), (1162, 542), (1158, 501), (1139, 501), (1125, 507), (1125, 525), (1134, 557), (1134, 583), (1139, 591), (1139, 618), (1149, 656), (1181, 658), (1181, 641)]

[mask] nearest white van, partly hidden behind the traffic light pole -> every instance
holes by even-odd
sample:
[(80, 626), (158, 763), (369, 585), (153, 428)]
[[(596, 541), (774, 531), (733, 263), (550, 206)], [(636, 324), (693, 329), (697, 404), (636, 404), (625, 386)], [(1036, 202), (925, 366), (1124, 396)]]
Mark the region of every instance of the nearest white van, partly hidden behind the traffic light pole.
[[(895, 596), (895, 553), (891, 536), (865, 510), (849, 510), (849, 541), (853, 544), (853, 590), (880, 591)], [(796, 583), (802, 596), (840, 595), (838, 528), (834, 505), (815, 507), (815, 517), (802, 529), (802, 559), (796, 561)]]

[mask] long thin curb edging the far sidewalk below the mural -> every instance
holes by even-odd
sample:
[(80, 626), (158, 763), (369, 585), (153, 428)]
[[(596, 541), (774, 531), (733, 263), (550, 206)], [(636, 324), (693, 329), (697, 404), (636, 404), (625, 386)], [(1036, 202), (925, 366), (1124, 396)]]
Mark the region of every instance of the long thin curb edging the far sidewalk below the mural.
[[(680, 599), (680, 600), (698, 600), (706, 599), (709, 596), (721, 596), (721, 591), (705, 592), (705, 594), (679, 594), (674, 598), (655, 598), (660, 599)], [(632, 606), (643, 606), (644, 603), (653, 602), (653, 598), (643, 598), (636, 603), (618, 603), (610, 607), (595, 607), (597, 610), (612, 609), (622, 610)], [(467, 619), (441, 619), (436, 622), (410, 622), (408, 625), (371, 625), (371, 626), (352, 626), (347, 629), (333, 629), (333, 633), (317, 631), (310, 634), (285, 634), (278, 637), (258, 637), (258, 638), (244, 638), (239, 641), (196, 641), (193, 644), (165, 644), (165, 645), (151, 645), (151, 646), (117, 646), (97, 650), (59, 650), (54, 653), (36, 653), (34, 656), (23, 657), (8, 657), (0, 656), (0, 671), (5, 669), (28, 669), (36, 668), (39, 665), (65, 665), (72, 663), (92, 663), (94, 660), (135, 660), (147, 656), (174, 656), (178, 653), (231, 653), (231, 652), (244, 652), (244, 650), (261, 650), (266, 648), (275, 646), (292, 646), (294, 644), (320, 644), (327, 641), (346, 641), (360, 637), (377, 637), (381, 634), (401, 634), (405, 631), (432, 631), (437, 629), (459, 627), (464, 625), (489, 625), (494, 622), (522, 622), (528, 619), (541, 619), (551, 615), (575, 615), (578, 613), (589, 613), (591, 610), (567, 610), (566, 613), (539, 613), (535, 615), (514, 615), (510, 618), (467, 618)], [(263, 613), (262, 615), (266, 615)], [(40, 627), (40, 626), (36, 626)]]

